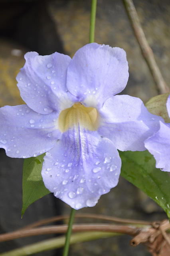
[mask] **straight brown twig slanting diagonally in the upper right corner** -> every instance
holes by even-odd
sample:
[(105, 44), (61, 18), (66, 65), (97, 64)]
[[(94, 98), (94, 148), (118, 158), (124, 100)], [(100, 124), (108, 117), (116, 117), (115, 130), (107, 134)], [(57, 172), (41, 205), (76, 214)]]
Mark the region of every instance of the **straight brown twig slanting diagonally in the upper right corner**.
[(146, 40), (146, 37), (145, 37), (142, 27), (140, 25), (138, 14), (134, 7), (133, 1), (132, 0), (123, 0), (123, 2), (125, 4), (125, 8), (127, 10), (128, 17), (130, 19), (132, 28), (134, 30), (134, 34), (136, 36), (136, 39), (138, 40), (138, 44), (140, 46), (142, 55), (143, 55), (144, 59), (146, 60), (146, 63), (148, 64), (148, 67), (149, 67), (152, 77), (154, 79), (158, 94), (170, 92), (170, 88), (167, 86), (166, 82), (164, 81), (162, 74), (160, 72), (160, 69), (158, 68), (158, 66), (156, 64), (156, 60), (154, 58), (152, 49), (148, 45), (148, 42)]

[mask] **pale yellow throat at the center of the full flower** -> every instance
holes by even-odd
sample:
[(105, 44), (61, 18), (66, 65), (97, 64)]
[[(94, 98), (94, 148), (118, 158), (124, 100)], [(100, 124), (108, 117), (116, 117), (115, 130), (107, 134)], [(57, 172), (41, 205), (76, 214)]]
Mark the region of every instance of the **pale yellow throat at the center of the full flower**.
[(96, 108), (86, 108), (80, 102), (75, 102), (71, 108), (61, 111), (58, 124), (61, 132), (75, 126), (95, 131), (99, 127), (99, 113)]

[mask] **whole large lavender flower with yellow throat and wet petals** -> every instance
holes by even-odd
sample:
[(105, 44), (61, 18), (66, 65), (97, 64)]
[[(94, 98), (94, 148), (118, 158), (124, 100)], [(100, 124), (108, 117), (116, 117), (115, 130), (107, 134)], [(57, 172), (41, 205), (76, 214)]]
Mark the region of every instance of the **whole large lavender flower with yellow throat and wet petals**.
[(10, 157), (47, 152), (42, 177), (49, 191), (72, 208), (95, 206), (115, 187), (119, 150), (145, 150), (160, 117), (139, 98), (116, 95), (128, 81), (121, 48), (87, 44), (73, 59), (55, 52), (25, 55), (17, 75), (26, 105), (0, 109), (0, 147)]

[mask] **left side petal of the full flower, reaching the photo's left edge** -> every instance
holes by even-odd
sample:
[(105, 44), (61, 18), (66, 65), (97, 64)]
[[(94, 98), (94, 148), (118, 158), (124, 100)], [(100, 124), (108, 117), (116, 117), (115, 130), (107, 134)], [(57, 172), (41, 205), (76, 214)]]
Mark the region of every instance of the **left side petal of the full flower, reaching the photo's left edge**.
[(57, 130), (57, 113), (42, 115), (27, 105), (0, 108), (0, 148), (7, 156), (28, 158), (51, 149), (61, 132)]

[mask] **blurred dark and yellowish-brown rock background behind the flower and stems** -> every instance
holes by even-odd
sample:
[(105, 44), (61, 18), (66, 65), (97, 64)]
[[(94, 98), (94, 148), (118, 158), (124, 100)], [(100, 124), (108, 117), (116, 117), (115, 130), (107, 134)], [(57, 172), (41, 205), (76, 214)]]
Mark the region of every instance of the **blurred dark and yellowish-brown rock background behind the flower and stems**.
[[(166, 83), (170, 86), (170, 2), (134, 0), (142, 28)], [(16, 74), (24, 54), (55, 51), (73, 56), (89, 41), (90, 0), (0, 0), (0, 106), (23, 104)], [(148, 67), (131, 29), (122, 0), (98, 0), (95, 42), (119, 46), (127, 52), (130, 77), (123, 94), (146, 102), (157, 94)], [(36, 220), (69, 213), (70, 207), (52, 194), (22, 209), (22, 159), (12, 159), (0, 149), (0, 233), (13, 231)], [(115, 217), (162, 220), (166, 214), (132, 184), (120, 178), (109, 194), (93, 208), (79, 210)], [(18, 248), (49, 236), (18, 239), (0, 244), (0, 252)], [(72, 256), (149, 256), (144, 246), (132, 248), (130, 237), (107, 238), (71, 246)], [(59, 255), (59, 251), (37, 255)]]

